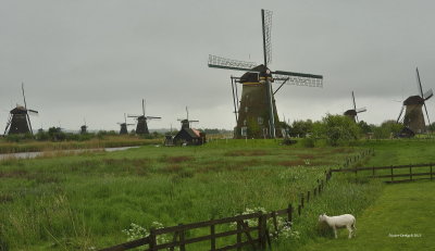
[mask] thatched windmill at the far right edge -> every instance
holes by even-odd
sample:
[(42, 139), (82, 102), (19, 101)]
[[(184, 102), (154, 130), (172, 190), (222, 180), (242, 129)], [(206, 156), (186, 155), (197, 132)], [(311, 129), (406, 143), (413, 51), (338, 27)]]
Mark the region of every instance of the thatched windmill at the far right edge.
[[(410, 96), (408, 99), (403, 101), (403, 105), (401, 106), (399, 116), (397, 117), (397, 123), (402, 122), (403, 125), (407, 128), (411, 129), (414, 134), (421, 134), (426, 131), (426, 126), (424, 123), (424, 115), (423, 115), (423, 106), (426, 113), (427, 123), (431, 124), (425, 102), (426, 100), (432, 98), (434, 93), (432, 89), (423, 93), (423, 87), (420, 81), (419, 68), (417, 68), (415, 72), (417, 72), (417, 87), (419, 89), (419, 95)], [(405, 115), (402, 117), (403, 111)]]

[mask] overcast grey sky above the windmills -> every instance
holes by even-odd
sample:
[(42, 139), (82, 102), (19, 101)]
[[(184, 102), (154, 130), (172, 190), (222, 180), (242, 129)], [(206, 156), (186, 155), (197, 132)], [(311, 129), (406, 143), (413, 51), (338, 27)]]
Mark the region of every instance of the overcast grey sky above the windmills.
[[(434, 1), (1, 0), (0, 130), (9, 110), (39, 111), (35, 128), (119, 129), (124, 113), (178, 127), (233, 128), (229, 76), (208, 54), (262, 62), (261, 9), (273, 11), (272, 70), (320, 74), (323, 88), (285, 86), (279, 117), (320, 120), (357, 105), (360, 120), (396, 120), (401, 101), (435, 88)], [(435, 98), (427, 101), (435, 121)], [(130, 121), (133, 122), (133, 121)], [(133, 127), (132, 127), (133, 128)]]

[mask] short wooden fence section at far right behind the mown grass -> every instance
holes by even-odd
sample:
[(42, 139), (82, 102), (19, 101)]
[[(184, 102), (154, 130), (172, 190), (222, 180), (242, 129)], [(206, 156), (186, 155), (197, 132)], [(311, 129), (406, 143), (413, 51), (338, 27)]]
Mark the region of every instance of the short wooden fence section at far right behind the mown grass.
[[(372, 166), (372, 167), (353, 167), (353, 168), (339, 168), (339, 170), (332, 170), (332, 172), (350, 172), (358, 175), (358, 173), (369, 174), (368, 177), (371, 178), (384, 178), (388, 179), (385, 183), (406, 183), (406, 181), (413, 181), (413, 180), (421, 180), (421, 179), (430, 179), (432, 180), (435, 173), (433, 167), (435, 163), (428, 164), (414, 164), (414, 165), (390, 165), (390, 166)], [(426, 171), (422, 170), (426, 167)], [(414, 171), (419, 168), (419, 171)], [(408, 170), (409, 172), (400, 172), (395, 173), (396, 170)], [(382, 174), (380, 174), (380, 171)], [(389, 171), (389, 172), (388, 172)], [(388, 174), (386, 174), (388, 173)], [(399, 179), (397, 179), (399, 178)], [(403, 179), (405, 178), (405, 179)]]

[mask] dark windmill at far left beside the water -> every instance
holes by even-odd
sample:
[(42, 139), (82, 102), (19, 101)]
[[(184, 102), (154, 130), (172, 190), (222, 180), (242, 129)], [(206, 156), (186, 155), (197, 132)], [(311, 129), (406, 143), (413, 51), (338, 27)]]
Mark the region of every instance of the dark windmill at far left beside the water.
[(23, 105), (16, 105), (16, 108), (10, 111), (8, 118), (7, 128), (4, 129), (4, 135), (12, 134), (34, 134), (32, 129), (32, 123), (29, 114), (38, 114), (38, 111), (27, 109), (26, 96), (24, 95), (24, 84), (22, 83), (21, 89), (23, 92)]

